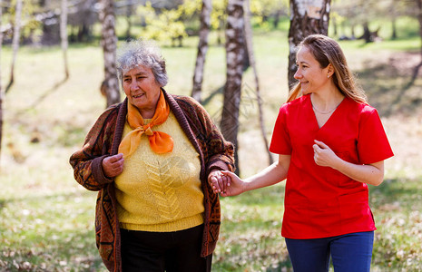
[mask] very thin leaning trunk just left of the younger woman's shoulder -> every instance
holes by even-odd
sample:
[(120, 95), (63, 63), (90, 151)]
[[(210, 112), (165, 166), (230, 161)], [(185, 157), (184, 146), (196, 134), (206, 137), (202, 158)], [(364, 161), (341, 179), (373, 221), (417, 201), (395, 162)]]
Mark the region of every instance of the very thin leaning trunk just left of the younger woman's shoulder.
[(269, 151), (269, 144), (267, 141), (267, 131), (265, 130), (264, 125), (264, 113), (262, 111), (262, 99), (260, 97), (260, 79), (258, 77), (257, 65), (255, 63), (255, 56), (253, 54), (253, 43), (252, 43), (252, 26), (250, 25), (250, 0), (246, 0), (246, 12), (245, 12), (245, 40), (246, 40), (246, 49), (248, 51), (249, 63), (252, 67), (254, 78), (255, 78), (255, 88), (257, 92), (257, 101), (258, 101), (258, 111), (260, 118), (260, 132), (262, 135), (262, 140), (264, 141), (265, 151), (268, 152), (269, 164), (272, 164), (271, 153)]

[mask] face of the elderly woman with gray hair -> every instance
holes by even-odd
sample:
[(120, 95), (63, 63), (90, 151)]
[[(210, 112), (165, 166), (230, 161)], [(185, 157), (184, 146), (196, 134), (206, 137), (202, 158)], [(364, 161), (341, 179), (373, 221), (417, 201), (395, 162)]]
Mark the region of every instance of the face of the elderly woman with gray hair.
[(160, 85), (151, 68), (139, 65), (123, 74), (123, 91), (143, 118), (152, 118), (160, 98)]

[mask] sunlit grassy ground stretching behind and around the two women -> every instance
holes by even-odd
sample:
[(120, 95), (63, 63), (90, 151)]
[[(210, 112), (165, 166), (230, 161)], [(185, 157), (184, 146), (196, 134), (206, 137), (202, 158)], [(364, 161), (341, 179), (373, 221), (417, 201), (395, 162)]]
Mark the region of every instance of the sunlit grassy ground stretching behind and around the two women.
[[(211, 41), (216, 35), (211, 34)], [(164, 44), (169, 92), (190, 94), (197, 39), (186, 47)], [(267, 131), (287, 96), (285, 30), (254, 36)], [(370, 187), (378, 230), (373, 271), (422, 270), (422, 137), (420, 77), (407, 87), (418, 60), (418, 38), (362, 44), (341, 42), (369, 102), (376, 105), (396, 156), (386, 161), (386, 181)], [(10, 47), (1, 55), (2, 85), (8, 81)], [(103, 112), (99, 92), (103, 56), (95, 43), (69, 48), (71, 78), (63, 82), (58, 47), (24, 47), (17, 56), (15, 85), (5, 95), (0, 158), (0, 270), (105, 271), (94, 245), (96, 193), (74, 181), (69, 156)], [(202, 97), (215, 121), (225, 82), (224, 48), (211, 42)], [(267, 163), (258, 131), (258, 108), (250, 70), (244, 74), (240, 114), (243, 177)], [(213, 271), (291, 271), (280, 228), (284, 183), (221, 199), (221, 237)]]

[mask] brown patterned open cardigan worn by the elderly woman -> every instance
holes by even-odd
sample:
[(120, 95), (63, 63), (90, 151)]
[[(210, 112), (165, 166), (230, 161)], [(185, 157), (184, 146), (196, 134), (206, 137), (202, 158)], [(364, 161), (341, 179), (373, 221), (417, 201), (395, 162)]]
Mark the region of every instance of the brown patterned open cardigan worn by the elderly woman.
[[(201, 184), (204, 194), (204, 231), (201, 257), (210, 255), (220, 232), (220, 200), (208, 183), (212, 169), (233, 170), (233, 145), (225, 141), (201, 104), (188, 96), (168, 94), (170, 109), (201, 158)], [(114, 180), (103, 173), (102, 161), (117, 154), (127, 114), (127, 98), (107, 109), (88, 132), (83, 149), (74, 152), (70, 163), (74, 179), (85, 189), (99, 190), (95, 209), (96, 245), (110, 271), (122, 271), (120, 228), (116, 213)]]

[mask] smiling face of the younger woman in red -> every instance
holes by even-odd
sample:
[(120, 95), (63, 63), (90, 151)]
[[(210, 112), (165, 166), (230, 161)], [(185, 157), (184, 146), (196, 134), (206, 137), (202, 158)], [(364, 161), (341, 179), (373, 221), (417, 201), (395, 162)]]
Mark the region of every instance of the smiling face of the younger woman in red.
[(319, 92), (319, 90), (328, 86), (329, 66), (321, 68), (319, 62), (315, 59), (306, 46), (302, 46), (296, 55), (298, 71), (294, 78), (299, 80), (302, 94)]

